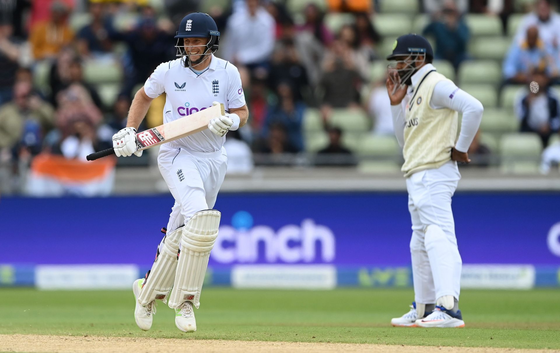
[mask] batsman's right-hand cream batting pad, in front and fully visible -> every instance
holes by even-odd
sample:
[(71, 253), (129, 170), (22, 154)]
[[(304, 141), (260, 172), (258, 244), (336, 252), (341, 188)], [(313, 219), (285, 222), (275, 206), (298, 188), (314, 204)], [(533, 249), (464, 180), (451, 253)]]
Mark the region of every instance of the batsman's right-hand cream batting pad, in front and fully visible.
[(217, 210), (198, 211), (183, 227), (175, 284), (169, 296), (170, 308), (178, 308), (187, 301), (199, 307), (200, 290), (210, 251), (218, 237), (221, 216)]

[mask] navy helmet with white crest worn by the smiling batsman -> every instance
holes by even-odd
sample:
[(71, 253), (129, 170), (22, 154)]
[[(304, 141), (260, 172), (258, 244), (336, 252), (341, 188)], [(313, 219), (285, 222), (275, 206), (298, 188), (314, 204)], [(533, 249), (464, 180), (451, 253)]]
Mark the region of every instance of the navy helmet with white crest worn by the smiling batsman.
[[(211, 54), (218, 50), (220, 32), (216, 22), (208, 13), (193, 12), (183, 17), (175, 38), (177, 39), (177, 44), (175, 45), (175, 48), (177, 48), (176, 56), (181, 58), (181, 62), (185, 67), (193, 67), (208, 59)], [(209, 38), (208, 43), (203, 45), (206, 49), (203, 50), (202, 54), (192, 54), (193, 56), (200, 55), (199, 59), (190, 59), (190, 54), (186, 53), (183, 38)]]

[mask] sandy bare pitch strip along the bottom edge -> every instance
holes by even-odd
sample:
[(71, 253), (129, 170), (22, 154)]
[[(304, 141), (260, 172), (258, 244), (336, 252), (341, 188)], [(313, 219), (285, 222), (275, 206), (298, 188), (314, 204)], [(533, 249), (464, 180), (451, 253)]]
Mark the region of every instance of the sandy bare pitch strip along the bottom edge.
[(180, 340), (176, 338), (75, 337), (40, 335), (0, 335), (1, 352), (77, 352), (77, 353), (169, 353), (169, 352), (414, 352), (414, 353), (537, 353), (529, 350), (484, 347), (393, 346), (352, 343), (305, 343), (263, 341)]

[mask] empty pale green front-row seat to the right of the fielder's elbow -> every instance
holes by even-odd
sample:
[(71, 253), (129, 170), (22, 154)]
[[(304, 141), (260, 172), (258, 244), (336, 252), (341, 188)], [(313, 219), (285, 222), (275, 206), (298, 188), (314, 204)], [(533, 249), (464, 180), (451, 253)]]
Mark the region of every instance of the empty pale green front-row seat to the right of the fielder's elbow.
[(507, 134), (500, 142), (501, 170), (504, 173), (538, 173), (542, 142), (537, 134)]

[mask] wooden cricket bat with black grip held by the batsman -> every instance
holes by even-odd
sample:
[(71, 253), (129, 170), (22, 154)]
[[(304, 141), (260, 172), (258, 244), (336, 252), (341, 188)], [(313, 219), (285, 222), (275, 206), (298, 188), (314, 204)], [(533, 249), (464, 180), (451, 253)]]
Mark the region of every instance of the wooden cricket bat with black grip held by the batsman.
[[(225, 115), (223, 103), (213, 105), (195, 113), (181, 117), (181, 119), (170, 121), (167, 124), (142, 131), (136, 134), (136, 145), (138, 150), (147, 149), (162, 143), (170, 142), (182, 137), (192, 135), (208, 128), (210, 120), (214, 117)], [(92, 153), (86, 157), (88, 161), (95, 161), (101, 157), (111, 156), (115, 150), (113, 147)]]

